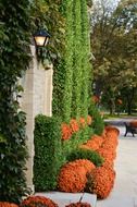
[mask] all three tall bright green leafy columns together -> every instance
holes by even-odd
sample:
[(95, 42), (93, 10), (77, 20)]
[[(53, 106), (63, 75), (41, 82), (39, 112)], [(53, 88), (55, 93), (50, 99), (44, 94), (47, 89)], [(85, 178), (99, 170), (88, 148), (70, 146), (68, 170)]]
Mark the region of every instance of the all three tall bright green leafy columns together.
[(91, 71), (86, 1), (65, 2), (65, 35), (63, 115), (68, 121), (88, 113)]

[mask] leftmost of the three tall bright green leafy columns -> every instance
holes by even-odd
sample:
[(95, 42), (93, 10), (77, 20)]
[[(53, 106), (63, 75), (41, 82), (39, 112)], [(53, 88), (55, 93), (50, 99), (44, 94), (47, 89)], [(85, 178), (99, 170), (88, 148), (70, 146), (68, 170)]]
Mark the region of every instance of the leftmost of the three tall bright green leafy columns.
[(65, 24), (63, 119), (70, 121), (73, 85), (73, 7), (70, 0), (65, 1)]

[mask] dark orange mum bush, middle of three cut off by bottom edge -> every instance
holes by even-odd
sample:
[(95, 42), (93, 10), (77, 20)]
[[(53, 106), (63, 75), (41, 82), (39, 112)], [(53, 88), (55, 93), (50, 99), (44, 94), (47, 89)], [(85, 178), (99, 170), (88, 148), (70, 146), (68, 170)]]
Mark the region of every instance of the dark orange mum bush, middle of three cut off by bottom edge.
[(29, 196), (24, 199), (20, 207), (58, 207), (58, 205), (50, 198), (43, 196)]

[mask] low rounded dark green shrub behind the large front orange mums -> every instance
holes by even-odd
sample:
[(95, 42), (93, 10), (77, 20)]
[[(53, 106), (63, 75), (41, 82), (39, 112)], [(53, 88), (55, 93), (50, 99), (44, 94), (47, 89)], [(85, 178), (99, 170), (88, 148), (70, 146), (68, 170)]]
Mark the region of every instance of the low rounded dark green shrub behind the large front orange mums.
[(90, 149), (77, 148), (67, 156), (67, 161), (76, 159), (88, 159), (97, 167), (103, 163), (103, 158), (97, 151)]

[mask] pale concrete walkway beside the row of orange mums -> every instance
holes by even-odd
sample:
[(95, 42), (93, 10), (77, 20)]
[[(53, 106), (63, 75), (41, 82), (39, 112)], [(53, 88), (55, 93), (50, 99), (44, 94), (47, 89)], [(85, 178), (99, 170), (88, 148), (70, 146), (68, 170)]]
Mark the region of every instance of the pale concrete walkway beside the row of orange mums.
[(124, 137), (122, 122), (113, 122), (120, 130), (114, 188), (107, 199), (97, 200), (97, 207), (137, 207), (137, 134), (135, 137), (132, 134)]

